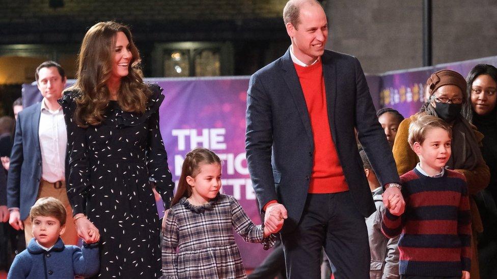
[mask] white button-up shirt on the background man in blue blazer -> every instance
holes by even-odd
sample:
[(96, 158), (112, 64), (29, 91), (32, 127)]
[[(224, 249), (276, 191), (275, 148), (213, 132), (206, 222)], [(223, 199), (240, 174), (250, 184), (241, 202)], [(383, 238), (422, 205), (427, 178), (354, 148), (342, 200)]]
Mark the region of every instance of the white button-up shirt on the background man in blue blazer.
[(49, 110), (45, 98), (41, 101), (40, 125), (38, 127), (41, 150), (41, 177), (48, 182), (64, 179), (67, 132), (62, 107)]

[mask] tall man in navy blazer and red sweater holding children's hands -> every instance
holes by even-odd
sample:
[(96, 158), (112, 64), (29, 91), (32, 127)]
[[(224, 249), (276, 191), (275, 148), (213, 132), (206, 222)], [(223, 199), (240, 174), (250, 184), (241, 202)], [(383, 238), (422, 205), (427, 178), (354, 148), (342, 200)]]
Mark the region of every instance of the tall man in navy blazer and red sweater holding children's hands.
[(328, 25), (315, 0), (291, 0), (291, 46), (257, 71), (247, 91), (246, 154), (266, 226), (279, 228), (289, 278), (319, 278), (324, 251), (335, 278), (369, 278), (365, 217), (374, 212), (354, 128), (403, 212), (400, 179), (357, 58), (325, 50)]

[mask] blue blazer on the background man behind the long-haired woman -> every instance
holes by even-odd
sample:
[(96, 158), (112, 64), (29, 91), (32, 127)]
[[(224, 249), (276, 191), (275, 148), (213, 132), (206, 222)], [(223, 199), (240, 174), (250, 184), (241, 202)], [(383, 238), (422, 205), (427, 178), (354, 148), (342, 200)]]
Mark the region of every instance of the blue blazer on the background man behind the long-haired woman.
[(41, 151), (38, 136), (41, 103), (19, 112), (7, 176), (7, 205), (18, 207), (21, 220), (36, 202), (41, 179)]

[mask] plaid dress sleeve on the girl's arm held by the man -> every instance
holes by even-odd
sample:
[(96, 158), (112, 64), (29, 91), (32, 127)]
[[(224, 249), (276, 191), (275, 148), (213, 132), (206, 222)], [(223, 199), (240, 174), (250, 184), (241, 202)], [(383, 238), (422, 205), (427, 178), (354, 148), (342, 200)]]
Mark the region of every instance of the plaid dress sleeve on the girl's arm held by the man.
[(264, 244), (264, 250), (269, 249), (276, 243), (276, 236), (274, 234), (264, 238), (264, 227), (262, 225), (254, 225), (240, 203), (231, 196), (230, 208), (233, 229), (238, 235), (243, 237), (246, 242), (262, 243)]

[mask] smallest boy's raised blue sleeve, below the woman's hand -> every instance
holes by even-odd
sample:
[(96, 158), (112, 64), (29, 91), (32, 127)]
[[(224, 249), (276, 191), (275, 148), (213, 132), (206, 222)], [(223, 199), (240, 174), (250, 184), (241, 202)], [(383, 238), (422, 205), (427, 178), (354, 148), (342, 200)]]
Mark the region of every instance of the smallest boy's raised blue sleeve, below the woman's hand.
[(74, 247), (72, 254), (74, 273), (81, 277), (90, 277), (98, 272), (99, 255), (98, 243), (83, 244), (82, 249)]

